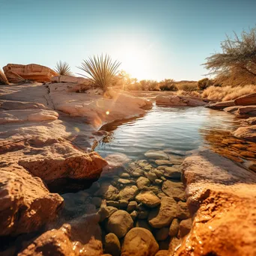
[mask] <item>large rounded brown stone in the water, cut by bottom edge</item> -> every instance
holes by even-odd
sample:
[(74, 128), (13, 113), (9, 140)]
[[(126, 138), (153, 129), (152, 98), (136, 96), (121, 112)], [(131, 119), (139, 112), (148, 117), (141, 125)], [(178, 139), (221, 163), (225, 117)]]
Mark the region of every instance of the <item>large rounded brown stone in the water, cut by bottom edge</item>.
[(124, 237), (122, 256), (154, 256), (159, 246), (150, 231), (144, 228), (132, 228)]

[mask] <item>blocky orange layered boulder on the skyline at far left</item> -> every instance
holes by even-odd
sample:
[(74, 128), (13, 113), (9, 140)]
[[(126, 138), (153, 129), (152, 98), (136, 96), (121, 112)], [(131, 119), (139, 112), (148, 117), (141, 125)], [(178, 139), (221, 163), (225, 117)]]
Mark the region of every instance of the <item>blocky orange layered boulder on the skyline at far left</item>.
[(56, 76), (57, 73), (51, 70), (49, 67), (44, 67), (38, 64), (7, 64), (3, 67), (4, 74), (9, 82), (20, 82), (19, 76), (25, 80), (35, 82), (50, 82), (52, 76)]

